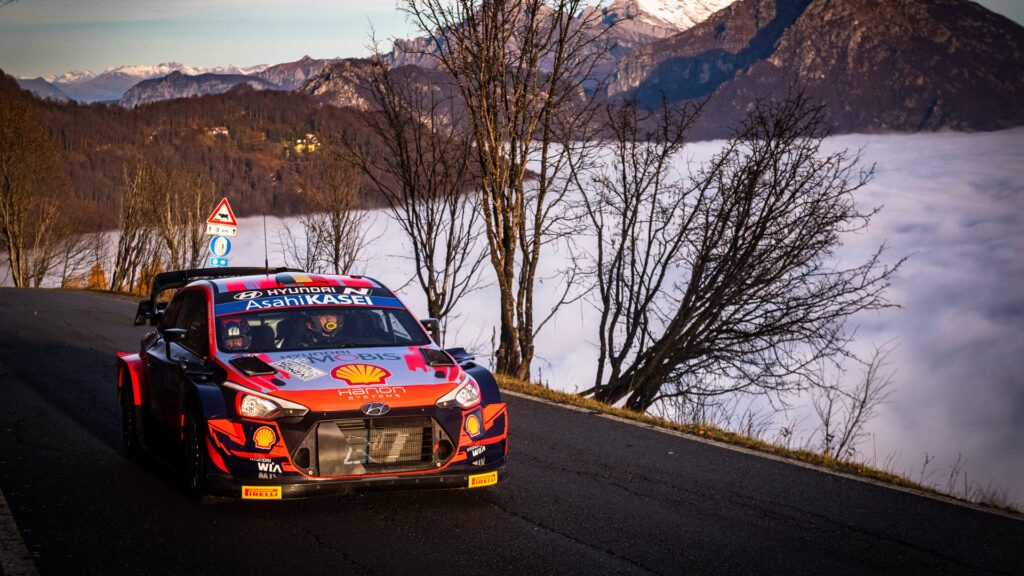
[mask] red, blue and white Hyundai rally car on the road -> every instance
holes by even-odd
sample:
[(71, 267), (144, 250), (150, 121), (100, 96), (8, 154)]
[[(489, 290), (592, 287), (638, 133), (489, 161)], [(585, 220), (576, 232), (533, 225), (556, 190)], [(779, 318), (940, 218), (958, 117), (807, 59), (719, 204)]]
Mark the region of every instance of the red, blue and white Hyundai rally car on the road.
[(508, 415), (495, 378), (462, 348), (441, 349), (437, 321), (415, 320), (376, 280), (169, 272), (139, 303), (135, 324), (146, 321), (157, 328), (139, 352), (118, 355), (125, 452), (180, 457), (196, 497), (476, 488), (505, 477)]

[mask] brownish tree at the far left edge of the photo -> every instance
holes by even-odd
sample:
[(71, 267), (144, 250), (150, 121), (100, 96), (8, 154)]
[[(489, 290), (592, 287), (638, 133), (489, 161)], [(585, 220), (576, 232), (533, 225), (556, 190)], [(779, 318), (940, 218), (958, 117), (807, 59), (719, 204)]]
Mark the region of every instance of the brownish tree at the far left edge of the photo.
[(6, 250), (14, 286), (39, 286), (53, 265), (65, 229), (60, 195), (68, 181), (60, 156), (29, 102), (0, 94), (0, 249)]

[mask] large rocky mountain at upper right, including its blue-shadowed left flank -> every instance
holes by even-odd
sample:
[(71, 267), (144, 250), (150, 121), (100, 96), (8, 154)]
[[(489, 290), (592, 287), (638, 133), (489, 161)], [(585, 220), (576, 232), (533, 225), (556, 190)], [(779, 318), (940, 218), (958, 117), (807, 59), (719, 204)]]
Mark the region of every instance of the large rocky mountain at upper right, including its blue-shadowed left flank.
[(840, 132), (1024, 124), (1024, 28), (966, 0), (740, 0), (634, 50), (609, 86), (648, 105), (709, 97), (698, 135), (802, 87)]

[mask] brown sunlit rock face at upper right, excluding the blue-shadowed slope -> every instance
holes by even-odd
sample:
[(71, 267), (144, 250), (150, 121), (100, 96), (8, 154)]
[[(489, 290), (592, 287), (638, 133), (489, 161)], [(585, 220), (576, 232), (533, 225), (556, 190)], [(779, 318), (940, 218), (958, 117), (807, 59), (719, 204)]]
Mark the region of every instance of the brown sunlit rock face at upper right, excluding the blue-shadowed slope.
[(722, 86), (724, 116), (806, 84), (843, 132), (1024, 124), (1024, 28), (964, 0), (815, 0), (774, 53)]

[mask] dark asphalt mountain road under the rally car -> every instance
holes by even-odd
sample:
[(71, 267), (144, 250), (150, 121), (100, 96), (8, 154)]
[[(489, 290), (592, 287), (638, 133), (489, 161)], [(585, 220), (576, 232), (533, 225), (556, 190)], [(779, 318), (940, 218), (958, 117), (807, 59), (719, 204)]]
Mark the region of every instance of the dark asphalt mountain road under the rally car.
[(134, 311), (0, 289), (0, 490), (40, 574), (1024, 574), (1024, 521), (514, 397), (497, 487), (199, 505), (120, 453)]

